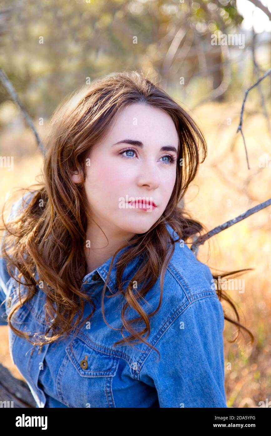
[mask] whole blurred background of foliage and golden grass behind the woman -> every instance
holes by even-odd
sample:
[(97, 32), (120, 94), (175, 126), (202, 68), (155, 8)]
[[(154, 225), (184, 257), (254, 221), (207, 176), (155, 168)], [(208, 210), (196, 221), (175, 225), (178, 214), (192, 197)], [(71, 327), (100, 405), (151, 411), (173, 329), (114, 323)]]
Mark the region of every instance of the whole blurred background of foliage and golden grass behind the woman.
[[(207, 158), (184, 205), (207, 231), (271, 197), (269, 73), (244, 107), (250, 169), (237, 133), (246, 89), (271, 68), (269, 0), (0, 0), (0, 68), (0, 208), (8, 191), (36, 183), (43, 162), (8, 83), (42, 140), (65, 95), (123, 70), (143, 72), (201, 127)], [(254, 268), (241, 276), (242, 292), (225, 291), (255, 338), (229, 342), (237, 329), (225, 320), (225, 388), (228, 407), (259, 407), (271, 401), (271, 206), (209, 239), (197, 258), (217, 274)], [(7, 329), (0, 363), (22, 379)]]

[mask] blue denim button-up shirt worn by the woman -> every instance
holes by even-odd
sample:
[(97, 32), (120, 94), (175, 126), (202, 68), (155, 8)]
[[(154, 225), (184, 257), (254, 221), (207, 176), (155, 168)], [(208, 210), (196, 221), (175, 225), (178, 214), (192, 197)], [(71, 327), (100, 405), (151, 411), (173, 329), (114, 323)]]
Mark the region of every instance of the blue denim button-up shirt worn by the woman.
[[(21, 201), (13, 204), (11, 218)], [(116, 329), (122, 326), (120, 313), (124, 302), (121, 294), (114, 295), (115, 263), (124, 248), (116, 256), (104, 297), (105, 319), (114, 329), (104, 322), (101, 311), (101, 290), (112, 257), (84, 276), (81, 289), (95, 297), (96, 309), (83, 327), (42, 347), (33, 346), (9, 328), (12, 361), (27, 381), (36, 407), (227, 407), (224, 314), (211, 271), (186, 244), (178, 242), (177, 234), (168, 224), (167, 231), (176, 240), (174, 253), (164, 276), (161, 307), (150, 318), (150, 335), (144, 335), (161, 358), (144, 343), (114, 347), (114, 342), (122, 339)], [(137, 257), (127, 265), (124, 279), (133, 278), (140, 260)], [(25, 288), (21, 286), (21, 293)], [(0, 304), (3, 303), (0, 325), (7, 325), (7, 314), (18, 298), (17, 282), (9, 276), (6, 262), (0, 258)], [(159, 298), (160, 277), (145, 296), (146, 301), (141, 302), (144, 311), (151, 313), (156, 309)], [(30, 302), (13, 314), (14, 326), (33, 334), (45, 331), (48, 325), (44, 303), (45, 293), (37, 285), (37, 293)], [(86, 304), (84, 310), (86, 317), (90, 306)], [(131, 320), (138, 313), (130, 309), (125, 316)]]

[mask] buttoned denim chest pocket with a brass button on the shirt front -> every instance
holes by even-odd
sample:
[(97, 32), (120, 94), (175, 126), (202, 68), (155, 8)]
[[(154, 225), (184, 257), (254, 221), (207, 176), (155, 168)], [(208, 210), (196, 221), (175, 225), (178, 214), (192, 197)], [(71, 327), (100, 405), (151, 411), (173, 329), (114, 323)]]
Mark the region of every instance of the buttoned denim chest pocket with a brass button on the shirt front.
[(57, 374), (57, 393), (68, 407), (115, 407), (112, 381), (119, 358), (89, 347), (76, 337), (66, 347)]

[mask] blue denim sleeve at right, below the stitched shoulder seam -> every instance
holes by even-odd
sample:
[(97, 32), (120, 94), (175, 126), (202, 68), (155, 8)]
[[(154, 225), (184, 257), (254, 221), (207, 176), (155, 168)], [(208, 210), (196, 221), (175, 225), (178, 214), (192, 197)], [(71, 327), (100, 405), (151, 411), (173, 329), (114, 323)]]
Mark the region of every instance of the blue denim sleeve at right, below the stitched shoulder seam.
[(153, 344), (160, 361), (152, 349), (140, 371), (140, 380), (156, 388), (160, 407), (227, 407), (223, 330), (221, 302), (210, 295), (166, 323)]

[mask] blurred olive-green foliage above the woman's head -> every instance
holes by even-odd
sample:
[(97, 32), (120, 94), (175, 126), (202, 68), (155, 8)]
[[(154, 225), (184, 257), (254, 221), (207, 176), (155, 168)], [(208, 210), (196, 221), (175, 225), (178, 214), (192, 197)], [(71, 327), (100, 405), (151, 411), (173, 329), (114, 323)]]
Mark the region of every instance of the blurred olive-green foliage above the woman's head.
[[(10, 8), (0, 1), (0, 10)], [(0, 63), (30, 116), (47, 118), (67, 93), (112, 71), (136, 69), (151, 78), (186, 85), (197, 74), (197, 58), (182, 58), (194, 36), (210, 48), (210, 35), (241, 23), (234, 0), (47, 0), (14, 1), (2, 15)], [(178, 30), (183, 38), (170, 63), (168, 51)], [(193, 36), (194, 35), (194, 36)], [(193, 68), (192, 68), (193, 67)], [(181, 88), (179, 88), (181, 91)], [(0, 87), (0, 104), (10, 99)]]

